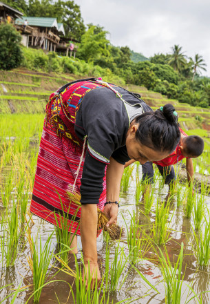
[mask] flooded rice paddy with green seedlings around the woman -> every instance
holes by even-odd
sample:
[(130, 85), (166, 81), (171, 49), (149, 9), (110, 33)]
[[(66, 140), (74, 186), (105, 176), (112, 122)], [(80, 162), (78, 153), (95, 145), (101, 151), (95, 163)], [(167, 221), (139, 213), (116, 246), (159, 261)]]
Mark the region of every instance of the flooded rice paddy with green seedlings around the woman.
[[(43, 287), (39, 303), (76, 303), (76, 278), (55, 257), (59, 249), (54, 226), (28, 212), (42, 125), (43, 115), (8, 115), (1, 119), (0, 303), (34, 303), (30, 240), (38, 239), (38, 248), (41, 240), (43, 251), (51, 235), (50, 274), (47, 272), (43, 284), (54, 282)], [(162, 187), (156, 171), (151, 195), (143, 204), (140, 179), (140, 166), (135, 164), (125, 171), (118, 213), (123, 234), (118, 241), (107, 240), (105, 234), (98, 237), (103, 288), (98, 298), (77, 303), (209, 303), (210, 198), (204, 185), (201, 193), (191, 197), (188, 187), (177, 182), (174, 196), (166, 202), (168, 189)], [(78, 247), (76, 263), (82, 265), (80, 238)], [(111, 282), (114, 260), (116, 269), (122, 270), (116, 274), (115, 285)], [(72, 256), (67, 265), (76, 271)], [(109, 276), (105, 276), (107, 269)], [(180, 299), (173, 299), (178, 291)]]

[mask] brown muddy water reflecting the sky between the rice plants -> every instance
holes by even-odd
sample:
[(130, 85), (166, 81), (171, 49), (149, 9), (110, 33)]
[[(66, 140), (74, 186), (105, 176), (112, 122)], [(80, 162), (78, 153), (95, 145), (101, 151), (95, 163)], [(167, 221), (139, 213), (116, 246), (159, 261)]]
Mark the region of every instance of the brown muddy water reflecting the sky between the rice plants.
[[(135, 176), (136, 172), (135, 169), (133, 171), (133, 176)], [(136, 179), (133, 178), (131, 185), (129, 187), (129, 191), (127, 195), (123, 195), (120, 197), (120, 213), (118, 216), (119, 225), (125, 227), (125, 222), (123, 220), (126, 218), (127, 223), (131, 218), (130, 214), (133, 211), (136, 213), (136, 221), (140, 222), (140, 225), (147, 225), (148, 221), (153, 221), (155, 218), (154, 211), (155, 207), (152, 207), (151, 212), (149, 213), (149, 219), (143, 216), (143, 205), (136, 206), (134, 193), (136, 191)], [(158, 187), (158, 182), (156, 183), (156, 187)], [(156, 189), (156, 195), (158, 194), (158, 189)], [(162, 189), (162, 200), (167, 195), (167, 186)], [(29, 202), (30, 203), (30, 202)], [(207, 207), (210, 209), (210, 199), (209, 197), (206, 198)], [(154, 203), (155, 205), (155, 203)], [(0, 218), (1, 218), (1, 211), (0, 209)], [(192, 294), (187, 289), (187, 285), (191, 285), (191, 287), (195, 290), (198, 294), (200, 292), (205, 292), (210, 290), (209, 286), (209, 268), (200, 269), (196, 263), (196, 257), (192, 251), (192, 245), (195, 243), (193, 238), (191, 223), (193, 220), (189, 220), (183, 215), (182, 209), (176, 207), (176, 200), (171, 202), (171, 216), (173, 216), (171, 220), (171, 231), (170, 240), (167, 242), (167, 252), (169, 254), (169, 258), (171, 262), (176, 262), (178, 254), (180, 252), (180, 244), (183, 242), (185, 245), (185, 258), (182, 267), (182, 272), (185, 273), (184, 283), (182, 288), (182, 303), (185, 303), (185, 300), (191, 298)], [(54, 231), (54, 227), (47, 222), (44, 222), (40, 218), (36, 218), (33, 216), (34, 225), (31, 225), (32, 236), (36, 237), (37, 234), (41, 236), (42, 243), (45, 243), (48, 236)], [(114, 249), (116, 246), (116, 242), (111, 241), (111, 251), (110, 251), (110, 258), (114, 256)], [(120, 245), (125, 248), (125, 254), (128, 254), (127, 249), (127, 242), (125, 236), (120, 241)], [(52, 239), (52, 250), (54, 251), (56, 247), (56, 238)], [(78, 247), (80, 248), (77, 254), (78, 263), (80, 263), (81, 258), (81, 239), (78, 238)], [(103, 235), (98, 237), (97, 240), (97, 247), (98, 247), (98, 261), (99, 264), (102, 265), (102, 269), (104, 268), (105, 264), (105, 242), (103, 241)], [(10, 267), (6, 269), (5, 267), (1, 267), (1, 276), (0, 276), (0, 287), (3, 285), (7, 285), (13, 283), (16, 287), (19, 285), (21, 281), (23, 281), (22, 285), (30, 285), (32, 284), (32, 274), (28, 267), (28, 262), (26, 260), (27, 256), (30, 255), (30, 247), (26, 241), (25, 246), (21, 248), (21, 252), (17, 258), (16, 265), (14, 267)], [(117, 292), (112, 292), (109, 296), (110, 303), (113, 300), (113, 303), (121, 301), (125, 298), (132, 297), (134, 303), (140, 304), (160, 304), (165, 303), (165, 287), (162, 283), (162, 274), (160, 272), (160, 267), (156, 262), (153, 260), (154, 258), (154, 251), (151, 249), (147, 252), (145, 256), (145, 260), (140, 261), (136, 267), (142, 272), (147, 280), (152, 285), (157, 285), (156, 288), (158, 289), (159, 294), (156, 292), (149, 292), (147, 294), (147, 286), (143, 284), (140, 280), (136, 271), (127, 265), (125, 272), (129, 271), (127, 279), (123, 285), (123, 288), (118, 290)], [(1, 258), (0, 258), (1, 260)], [(74, 269), (74, 260), (70, 261), (70, 265)], [(0, 265), (1, 266), (1, 265)], [(57, 265), (59, 266), (59, 265)], [(56, 269), (53, 270), (56, 272)], [(70, 288), (68, 287), (67, 283), (71, 285), (74, 282), (74, 279), (63, 272), (60, 272), (55, 277), (57, 280), (63, 280), (64, 282), (57, 282), (52, 283), (48, 287), (43, 288), (43, 292), (41, 294), (41, 300), (39, 303), (43, 304), (52, 304), (52, 303), (74, 303), (72, 301), (72, 296), (69, 296)], [(67, 282), (67, 283), (66, 283)], [(73, 289), (75, 287), (73, 285)], [(10, 288), (4, 288), (0, 291), (0, 300), (2, 300), (5, 296), (10, 294)], [(22, 292), (15, 304), (23, 304), (29, 297), (29, 292)], [(140, 298), (143, 297), (143, 298)], [(57, 300), (59, 298), (59, 302)], [(140, 298), (140, 299), (137, 299)], [(68, 299), (68, 300), (67, 300)], [(10, 303), (10, 299), (5, 303)], [(29, 303), (33, 303), (32, 300)], [(196, 303), (196, 301), (191, 301), (190, 303)], [(210, 303), (210, 294), (204, 294), (202, 296), (202, 303), (207, 304)]]

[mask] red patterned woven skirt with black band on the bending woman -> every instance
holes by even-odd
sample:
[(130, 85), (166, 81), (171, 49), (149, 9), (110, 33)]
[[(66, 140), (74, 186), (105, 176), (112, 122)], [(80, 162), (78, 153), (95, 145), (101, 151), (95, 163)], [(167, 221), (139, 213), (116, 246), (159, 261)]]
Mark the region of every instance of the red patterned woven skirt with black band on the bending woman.
[[(74, 128), (74, 124), (72, 125)], [(65, 218), (68, 219), (68, 231), (71, 231), (72, 234), (76, 231), (79, 236), (81, 207), (70, 203), (67, 191), (72, 189), (74, 184), (82, 153), (83, 145), (78, 145), (68, 137), (59, 136), (54, 126), (44, 125), (30, 206), (30, 211), (34, 215), (60, 228), (61, 220), (63, 221), (63, 215), (65, 215)], [(76, 193), (80, 191), (84, 161), (85, 153), (76, 178), (74, 188)], [(103, 192), (98, 203), (99, 209), (103, 210), (105, 200), (106, 184), (104, 177)], [(98, 231), (99, 233), (100, 231)]]

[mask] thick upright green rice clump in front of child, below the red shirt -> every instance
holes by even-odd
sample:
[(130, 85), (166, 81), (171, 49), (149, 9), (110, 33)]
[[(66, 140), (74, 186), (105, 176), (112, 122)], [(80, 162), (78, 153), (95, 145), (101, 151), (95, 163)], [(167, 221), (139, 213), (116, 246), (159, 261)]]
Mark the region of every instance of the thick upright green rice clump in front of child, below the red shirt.
[(165, 206), (165, 204), (161, 202), (160, 198), (157, 198), (156, 219), (151, 226), (154, 243), (157, 245), (164, 244), (169, 240), (169, 235), (171, 233), (170, 225), (173, 218), (173, 216), (169, 218), (169, 214), (170, 203), (167, 202)]

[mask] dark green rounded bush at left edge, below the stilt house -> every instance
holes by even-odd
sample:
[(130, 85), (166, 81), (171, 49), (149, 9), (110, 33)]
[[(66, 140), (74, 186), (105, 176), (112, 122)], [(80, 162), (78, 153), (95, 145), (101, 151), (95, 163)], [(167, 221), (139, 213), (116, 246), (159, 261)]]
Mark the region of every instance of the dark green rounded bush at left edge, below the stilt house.
[(21, 64), (21, 35), (12, 24), (0, 26), (0, 69), (10, 70)]

